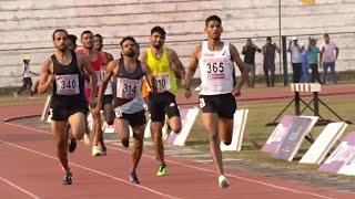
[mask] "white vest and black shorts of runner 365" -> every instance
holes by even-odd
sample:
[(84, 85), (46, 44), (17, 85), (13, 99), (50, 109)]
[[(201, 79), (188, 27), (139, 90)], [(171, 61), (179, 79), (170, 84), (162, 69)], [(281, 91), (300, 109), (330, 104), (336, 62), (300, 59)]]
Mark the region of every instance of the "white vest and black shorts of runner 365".
[(232, 119), (236, 104), (232, 95), (234, 64), (230, 43), (224, 42), (221, 51), (210, 51), (209, 42), (202, 43), (199, 61), (201, 74), (200, 106), (203, 113), (217, 113)]

